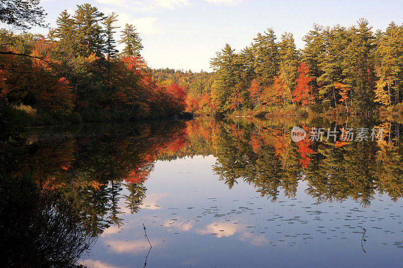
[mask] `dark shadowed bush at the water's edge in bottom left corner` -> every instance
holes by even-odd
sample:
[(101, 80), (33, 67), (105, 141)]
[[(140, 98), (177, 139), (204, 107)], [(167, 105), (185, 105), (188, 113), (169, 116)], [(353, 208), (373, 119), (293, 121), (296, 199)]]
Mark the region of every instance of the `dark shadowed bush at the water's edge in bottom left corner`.
[(0, 250), (2, 267), (70, 267), (90, 249), (71, 200), (30, 179), (2, 177)]

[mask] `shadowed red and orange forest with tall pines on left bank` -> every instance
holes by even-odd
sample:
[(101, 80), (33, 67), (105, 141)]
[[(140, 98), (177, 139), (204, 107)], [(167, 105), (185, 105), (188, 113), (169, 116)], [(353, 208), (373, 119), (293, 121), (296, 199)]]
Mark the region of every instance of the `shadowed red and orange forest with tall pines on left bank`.
[(113, 12), (83, 4), (61, 12), (47, 36), (0, 30), (0, 98), (13, 110), (3, 116), (54, 123), (183, 114), (185, 89), (156, 81), (136, 27), (116, 22)]

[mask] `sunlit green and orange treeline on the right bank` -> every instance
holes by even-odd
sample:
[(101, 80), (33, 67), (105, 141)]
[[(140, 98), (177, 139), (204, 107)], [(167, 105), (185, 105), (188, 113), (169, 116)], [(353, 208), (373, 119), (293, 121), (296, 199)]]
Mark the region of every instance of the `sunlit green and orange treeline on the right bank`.
[(402, 111), (402, 26), (373, 32), (365, 19), (350, 28), (314, 24), (303, 40), (297, 50), (291, 33), (278, 40), (268, 28), (239, 53), (226, 44), (211, 60), (212, 75), (156, 73), (188, 86), (187, 110), (199, 114)]

